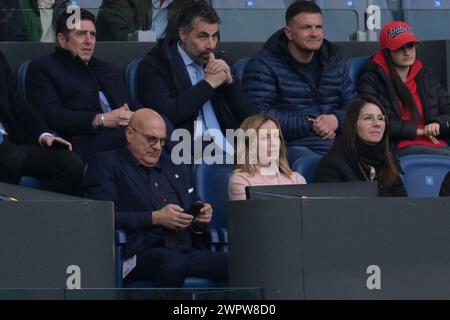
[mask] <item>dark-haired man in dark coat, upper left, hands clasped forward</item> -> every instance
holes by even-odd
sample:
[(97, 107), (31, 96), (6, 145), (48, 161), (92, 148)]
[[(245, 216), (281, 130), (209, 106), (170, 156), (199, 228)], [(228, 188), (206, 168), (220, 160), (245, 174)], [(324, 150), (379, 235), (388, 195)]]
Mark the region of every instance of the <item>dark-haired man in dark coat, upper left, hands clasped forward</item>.
[(130, 103), (118, 68), (93, 58), (95, 17), (81, 10), (80, 28), (69, 30), (71, 19), (58, 19), (55, 52), (30, 63), (27, 98), (88, 162), (98, 151), (125, 145), (123, 128), (138, 105)]

